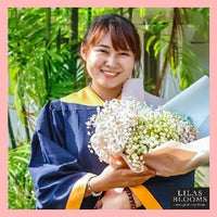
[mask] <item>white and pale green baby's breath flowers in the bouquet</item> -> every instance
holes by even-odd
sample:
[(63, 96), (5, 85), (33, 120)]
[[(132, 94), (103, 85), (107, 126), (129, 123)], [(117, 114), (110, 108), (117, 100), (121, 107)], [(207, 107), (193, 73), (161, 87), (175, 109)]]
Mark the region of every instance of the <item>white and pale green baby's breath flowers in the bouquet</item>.
[(174, 140), (189, 143), (199, 139), (190, 118), (154, 110), (135, 98), (106, 101), (87, 122), (89, 148), (101, 161), (111, 155), (125, 158), (133, 171), (141, 171), (143, 154)]

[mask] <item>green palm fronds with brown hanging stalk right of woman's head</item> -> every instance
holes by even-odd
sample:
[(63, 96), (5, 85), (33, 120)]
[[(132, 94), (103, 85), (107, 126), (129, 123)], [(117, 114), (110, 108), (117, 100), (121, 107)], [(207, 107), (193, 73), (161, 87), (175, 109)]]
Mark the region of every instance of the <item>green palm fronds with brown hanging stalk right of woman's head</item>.
[[(163, 53), (163, 67), (155, 84), (155, 94), (159, 93), (167, 68), (175, 77), (180, 77), (181, 89), (186, 89), (197, 79), (192, 73), (194, 68), (199, 68), (202, 75), (208, 75), (207, 72), (199, 67), (191, 43), (184, 39), (184, 27), (189, 25), (192, 25), (195, 30), (203, 29), (204, 38), (207, 39), (208, 22), (209, 10), (206, 8), (174, 8), (173, 20), (165, 18), (165, 11), (163, 10), (151, 18), (149, 25), (144, 22), (142, 29), (149, 34), (145, 46), (146, 52), (150, 52), (152, 47), (155, 58), (159, 58)], [(165, 34), (165, 29), (168, 27), (171, 28), (170, 34)]]

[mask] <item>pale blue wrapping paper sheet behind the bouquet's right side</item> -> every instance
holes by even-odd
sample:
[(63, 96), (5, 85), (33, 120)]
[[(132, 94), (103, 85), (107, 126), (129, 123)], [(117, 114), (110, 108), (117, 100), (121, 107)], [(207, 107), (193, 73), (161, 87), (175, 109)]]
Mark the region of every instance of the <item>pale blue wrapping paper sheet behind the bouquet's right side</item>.
[(202, 77), (163, 105), (162, 110), (191, 117), (200, 138), (209, 136), (209, 78)]

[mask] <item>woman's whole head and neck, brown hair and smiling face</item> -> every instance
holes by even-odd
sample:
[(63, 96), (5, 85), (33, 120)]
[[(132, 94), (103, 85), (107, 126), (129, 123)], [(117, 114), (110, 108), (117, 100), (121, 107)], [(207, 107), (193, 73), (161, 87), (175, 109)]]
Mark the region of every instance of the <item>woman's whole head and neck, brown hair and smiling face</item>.
[(120, 94), (123, 84), (140, 60), (140, 49), (137, 29), (128, 20), (110, 14), (92, 23), (80, 54), (92, 79), (91, 88), (99, 97), (111, 100)]

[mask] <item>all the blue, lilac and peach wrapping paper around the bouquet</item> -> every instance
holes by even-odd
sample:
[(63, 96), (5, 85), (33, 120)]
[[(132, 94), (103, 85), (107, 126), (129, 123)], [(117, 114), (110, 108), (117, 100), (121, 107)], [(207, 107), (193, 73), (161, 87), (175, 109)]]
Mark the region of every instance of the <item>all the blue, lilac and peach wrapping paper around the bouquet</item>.
[[(130, 79), (123, 88), (124, 97), (136, 97), (145, 101), (149, 105), (163, 104), (164, 101), (140, 91), (141, 80)], [(183, 144), (177, 141), (169, 141), (144, 154), (146, 167), (156, 170), (158, 176), (176, 176), (186, 174), (203, 165), (209, 159), (209, 78), (202, 77), (188, 89), (176, 95), (162, 106), (173, 113), (190, 116), (194, 127), (199, 129), (197, 141)], [(127, 158), (123, 156), (127, 162)], [(128, 166), (130, 164), (127, 162)]]

